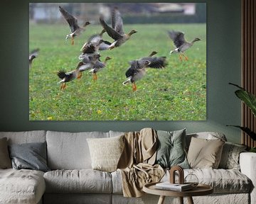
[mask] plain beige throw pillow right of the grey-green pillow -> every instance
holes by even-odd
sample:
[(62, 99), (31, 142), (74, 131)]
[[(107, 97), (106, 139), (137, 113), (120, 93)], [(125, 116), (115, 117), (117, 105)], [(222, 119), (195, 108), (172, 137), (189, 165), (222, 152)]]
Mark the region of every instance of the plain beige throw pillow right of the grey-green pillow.
[(188, 163), (191, 168), (217, 169), (224, 143), (220, 139), (205, 140), (192, 137), (188, 149)]

